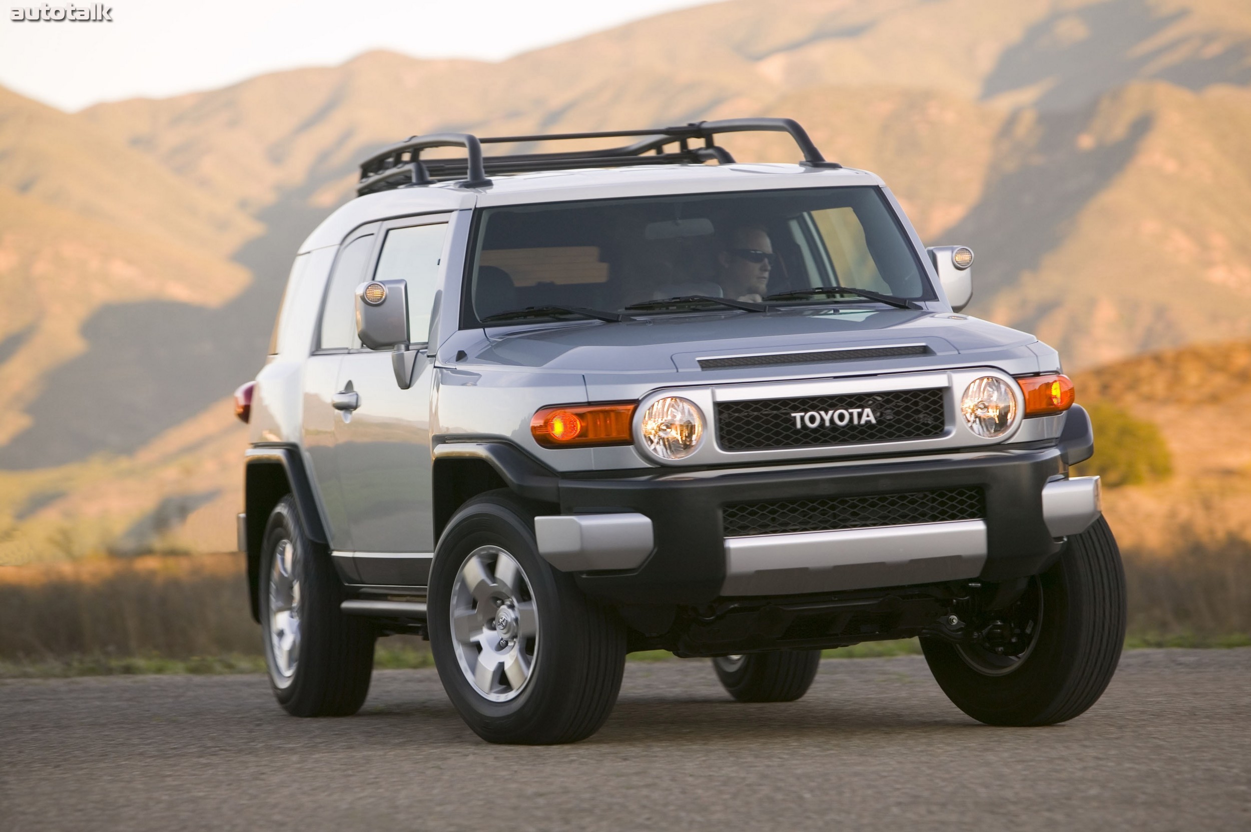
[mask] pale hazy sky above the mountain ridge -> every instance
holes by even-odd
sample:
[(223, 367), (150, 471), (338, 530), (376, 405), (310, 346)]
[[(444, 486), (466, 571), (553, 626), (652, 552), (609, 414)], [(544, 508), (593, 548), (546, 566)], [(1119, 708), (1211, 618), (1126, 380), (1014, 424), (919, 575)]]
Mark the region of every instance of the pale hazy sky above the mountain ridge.
[(379, 47), (419, 57), (500, 60), (708, 1), (118, 0), (108, 4), (111, 22), (14, 22), (13, 7), (38, 4), (8, 0), (0, 2), (0, 85), (78, 110), (339, 64)]

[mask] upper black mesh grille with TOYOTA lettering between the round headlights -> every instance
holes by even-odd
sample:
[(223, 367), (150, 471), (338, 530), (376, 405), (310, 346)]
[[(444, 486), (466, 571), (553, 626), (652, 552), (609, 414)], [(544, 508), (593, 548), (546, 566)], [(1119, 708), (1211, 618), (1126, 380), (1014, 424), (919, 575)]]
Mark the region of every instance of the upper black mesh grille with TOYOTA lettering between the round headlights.
[(926, 438), (943, 428), (942, 390), (717, 404), (717, 438), (726, 451)]

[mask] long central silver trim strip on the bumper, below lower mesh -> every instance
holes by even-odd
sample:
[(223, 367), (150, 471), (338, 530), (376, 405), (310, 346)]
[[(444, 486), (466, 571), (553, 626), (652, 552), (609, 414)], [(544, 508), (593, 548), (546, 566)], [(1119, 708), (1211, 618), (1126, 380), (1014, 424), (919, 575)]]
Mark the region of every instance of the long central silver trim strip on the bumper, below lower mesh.
[(726, 540), (722, 595), (791, 595), (937, 583), (977, 577), (986, 523), (761, 535)]

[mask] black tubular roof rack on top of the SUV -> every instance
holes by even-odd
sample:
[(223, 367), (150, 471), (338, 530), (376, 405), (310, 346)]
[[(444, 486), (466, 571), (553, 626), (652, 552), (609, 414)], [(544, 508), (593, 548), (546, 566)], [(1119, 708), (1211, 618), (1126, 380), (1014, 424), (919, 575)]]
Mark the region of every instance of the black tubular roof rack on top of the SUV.
[[(407, 141), (380, 150), (360, 165), (360, 182), (357, 194), (375, 194), (412, 185), (432, 185), (463, 180), (460, 187), (487, 187), (488, 174), (523, 174), (542, 170), (572, 170), (578, 167), (629, 167), (634, 165), (686, 165), (708, 160), (726, 165), (734, 157), (718, 147), (713, 137), (722, 132), (776, 131), (788, 132), (803, 154), (801, 165), (807, 167), (842, 167), (826, 161), (807, 131), (793, 119), (724, 119), (722, 121), (694, 121), (678, 127), (652, 130), (605, 130), (599, 132), (559, 132), (534, 136), (494, 136), (479, 139), (468, 132), (435, 132), (412, 136)], [(618, 139), (642, 136), (641, 141), (604, 150), (579, 150), (554, 154), (515, 154), (509, 156), (483, 156), (482, 146), (488, 144), (520, 144), (532, 141), (562, 141), (567, 139)], [(702, 147), (692, 147), (692, 140), (703, 140)], [(666, 145), (677, 142), (677, 150)], [(429, 147), (464, 147), (463, 159), (422, 159)]]

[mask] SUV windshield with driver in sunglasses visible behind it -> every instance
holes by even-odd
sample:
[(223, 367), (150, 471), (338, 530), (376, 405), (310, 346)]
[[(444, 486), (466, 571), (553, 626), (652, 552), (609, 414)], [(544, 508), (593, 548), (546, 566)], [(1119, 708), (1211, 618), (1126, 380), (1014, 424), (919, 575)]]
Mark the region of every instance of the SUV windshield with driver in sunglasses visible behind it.
[(922, 275), (877, 187), (518, 205), (480, 215), (465, 311), (469, 325), (503, 325), (528, 307), (549, 319), (560, 307), (689, 311), (649, 304), (686, 296), (874, 302), (811, 292), (823, 286), (929, 300)]

